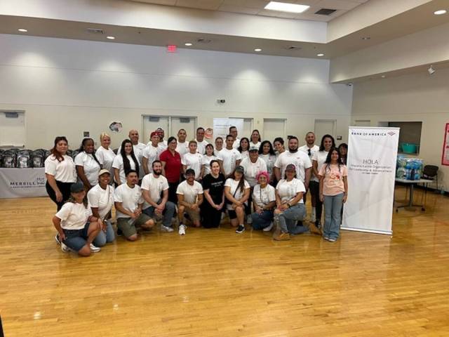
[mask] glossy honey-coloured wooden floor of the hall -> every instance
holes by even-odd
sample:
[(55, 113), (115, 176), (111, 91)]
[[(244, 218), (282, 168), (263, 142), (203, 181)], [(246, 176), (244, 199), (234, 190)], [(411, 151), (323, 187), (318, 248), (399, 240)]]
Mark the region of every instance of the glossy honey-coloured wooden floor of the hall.
[(274, 242), (225, 225), (119, 238), (91, 258), (60, 251), (54, 210), (0, 200), (6, 337), (449, 336), (449, 198), (433, 192), (425, 213), (394, 213), (392, 237)]

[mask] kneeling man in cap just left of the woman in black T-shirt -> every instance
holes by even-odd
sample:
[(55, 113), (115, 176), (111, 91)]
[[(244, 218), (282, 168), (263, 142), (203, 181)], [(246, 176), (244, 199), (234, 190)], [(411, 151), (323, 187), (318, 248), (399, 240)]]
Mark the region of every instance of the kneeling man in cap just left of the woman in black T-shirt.
[(177, 217), (180, 220), (179, 234), (185, 235), (184, 212), (187, 213), (195, 227), (201, 226), (199, 206), (203, 203), (203, 186), (195, 180), (195, 171), (187, 169), (185, 178), (177, 186)]

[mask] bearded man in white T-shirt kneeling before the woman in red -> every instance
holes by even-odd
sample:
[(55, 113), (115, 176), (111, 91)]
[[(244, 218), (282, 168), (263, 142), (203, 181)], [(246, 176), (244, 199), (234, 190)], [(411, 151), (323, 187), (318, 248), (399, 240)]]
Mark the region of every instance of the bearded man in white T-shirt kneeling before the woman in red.
[(152, 169), (153, 173), (147, 174), (142, 179), (142, 197), (145, 200), (143, 213), (150, 218), (163, 216), (161, 231), (173, 232), (171, 219), (175, 213), (175, 204), (168, 201), (168, 181), (162, 176), (161, 161), (153, 161)]

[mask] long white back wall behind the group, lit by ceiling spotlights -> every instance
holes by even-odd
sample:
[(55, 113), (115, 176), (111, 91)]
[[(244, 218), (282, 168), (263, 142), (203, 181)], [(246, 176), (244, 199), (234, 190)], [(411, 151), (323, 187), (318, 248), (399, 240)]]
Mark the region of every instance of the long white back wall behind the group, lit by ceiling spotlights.
[(249, 117), (260, 131), (263, 118), (287, 118), (300, 138), (315, 119), (336, 119), (347, 140), (352, 90), (328, 84), (328, 60), (15, 35), (0, 35), (0, 46), (0, 110), (25, 110), (29, 148), (58, 135), (75, 147), (82, 131), (96, 139), (116, 119), (141, 130), (142, 114), (197, 116), (204, 127)]

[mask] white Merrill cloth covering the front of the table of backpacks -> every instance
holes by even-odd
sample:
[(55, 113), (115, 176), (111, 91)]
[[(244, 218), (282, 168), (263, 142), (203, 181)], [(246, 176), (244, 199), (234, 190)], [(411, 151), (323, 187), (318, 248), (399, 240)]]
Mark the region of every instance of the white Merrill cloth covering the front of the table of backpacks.
[(0, 199), (42, 197), (45, 189), (45, 169), (0, 169)]

